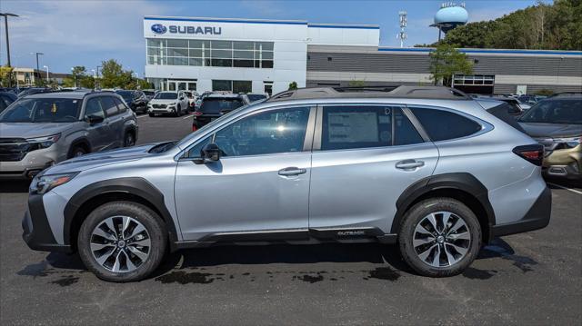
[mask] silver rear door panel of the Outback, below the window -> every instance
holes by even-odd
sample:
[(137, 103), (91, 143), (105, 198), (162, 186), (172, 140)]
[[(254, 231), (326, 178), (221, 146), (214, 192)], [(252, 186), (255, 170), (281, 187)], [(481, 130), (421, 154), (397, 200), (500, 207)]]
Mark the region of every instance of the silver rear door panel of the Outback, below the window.
[[(398, 196), (412, 183), (430, 176), (437, 159), (433, 143), (314, 152), (309, 227), (377, 227), (390, 232)], [(424, 165), (396, 168), (406, 160)]]

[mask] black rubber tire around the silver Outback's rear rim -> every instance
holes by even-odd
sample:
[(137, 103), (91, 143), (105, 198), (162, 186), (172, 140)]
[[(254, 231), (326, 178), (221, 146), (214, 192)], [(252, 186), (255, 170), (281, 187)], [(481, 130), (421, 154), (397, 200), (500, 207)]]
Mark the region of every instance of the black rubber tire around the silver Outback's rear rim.
[[(470, 240), (467, 240), (468, 243), (464, 242), (464, 245), (467, 246), (467, 253), (465, 253), (464, 257), (459, 256), (462, 258), (460, 258), (458, 262), (452, 263), (449, 266), (436, 267), (424, 262), (419, 257), (419, 254), (416, 253), (413, 246), (416, 225), (433, 212), (452, 212), (465, 222), (466, 229), (468, 229), (467, 232), (470, 234)], [(465, 228), (463, 230), (465, 230)], [(445, 242), (447, 242), (447, 240), (445, 240)], [(477, 254), (481, 249), (481, 227), (475, 213), (465, 204), (452, 198), (433, 198), (416, 203), (416, 205), (406, 212), (404, 221), (400, 227), (400, 232), (398, 232), (398, 243), (400, 253), (406, 263), (420, 275), (429, 277), (453, 276), (465, 271), (471, 262), (477, 258)], [(435, 243), (437, 242), (435, 241)], [(427, 244), (427, 246), (431, 245), (433, 244)], [(442, 245), (443, 247), (447, 246), (447, 243), (443, 243)], [(422, 247), (417, 248), (421, 248), (421, 250), (423, 249)], [(436, 257), (436, 250), (432, 254), (432, 257)], [(447, 258), (446, 253), (445, 258)], [(438, 265), (440, 264), (438, 263)]]

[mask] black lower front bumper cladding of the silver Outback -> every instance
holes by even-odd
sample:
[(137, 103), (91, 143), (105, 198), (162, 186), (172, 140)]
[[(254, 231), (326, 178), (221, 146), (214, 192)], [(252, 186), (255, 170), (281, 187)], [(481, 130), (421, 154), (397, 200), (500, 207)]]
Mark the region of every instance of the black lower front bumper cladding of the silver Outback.
[(39, 252), (72, 252), (70, 245), (59, 244), (51, 231), (46, 218), (43, 195), (30, 194), (28, 210), (22, 221), (22, 238), (30, 247)]

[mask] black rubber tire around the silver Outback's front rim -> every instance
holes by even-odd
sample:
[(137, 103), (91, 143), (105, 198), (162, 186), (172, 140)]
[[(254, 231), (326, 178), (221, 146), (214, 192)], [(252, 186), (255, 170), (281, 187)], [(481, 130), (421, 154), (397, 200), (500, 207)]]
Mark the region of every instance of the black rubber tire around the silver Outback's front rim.
[[(148, 256), (135, 271), (111, 272), (95, 260), (91, 252), (91, 237), (95, 227), (112, 216), (128, 216), (142, 223), (151, 241)], [(135, 282), (154, 272), (166, 253), (167, 232), (161, 218), (146, 206), (131, 202), (111, 202), (97, 207), (87, 216), (77, 238), (77, 248), (85, 267), (107, 282)]]

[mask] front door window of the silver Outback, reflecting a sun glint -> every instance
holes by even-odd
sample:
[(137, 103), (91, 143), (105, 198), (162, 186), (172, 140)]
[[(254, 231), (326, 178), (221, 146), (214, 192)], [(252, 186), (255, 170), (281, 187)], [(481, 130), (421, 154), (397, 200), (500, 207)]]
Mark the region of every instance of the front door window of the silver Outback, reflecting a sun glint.
[(253, 114), (216, 133), (215, 143), (225, 156), (303, 151), (309, 108)]

